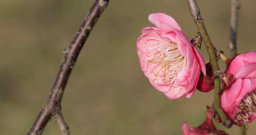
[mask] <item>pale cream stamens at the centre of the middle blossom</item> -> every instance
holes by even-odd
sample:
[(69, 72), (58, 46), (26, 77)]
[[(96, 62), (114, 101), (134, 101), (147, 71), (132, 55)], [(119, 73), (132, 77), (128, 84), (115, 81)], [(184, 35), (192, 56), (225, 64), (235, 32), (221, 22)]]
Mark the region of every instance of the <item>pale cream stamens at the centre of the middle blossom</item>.
[[(154, 43), (154, 41), (150, 41)], [(147, 49), (148, 62), (152, 63), (155, 76), (154, 81), (160, 81), (172, 85), (181, 71), (187, 65), (187, 59), (180, 53), (177, 43), (172, 41), (157, 41), (156, 45)]]

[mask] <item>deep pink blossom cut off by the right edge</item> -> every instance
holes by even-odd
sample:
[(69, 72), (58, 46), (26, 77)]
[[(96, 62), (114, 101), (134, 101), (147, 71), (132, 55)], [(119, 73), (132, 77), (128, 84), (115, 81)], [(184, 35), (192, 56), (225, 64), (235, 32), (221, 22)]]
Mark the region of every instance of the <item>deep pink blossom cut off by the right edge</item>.
[(221, 106), (237, 126), (256, 118), (256, 52), (239, 54), (227, 66), (232, 85), (224, 86)]

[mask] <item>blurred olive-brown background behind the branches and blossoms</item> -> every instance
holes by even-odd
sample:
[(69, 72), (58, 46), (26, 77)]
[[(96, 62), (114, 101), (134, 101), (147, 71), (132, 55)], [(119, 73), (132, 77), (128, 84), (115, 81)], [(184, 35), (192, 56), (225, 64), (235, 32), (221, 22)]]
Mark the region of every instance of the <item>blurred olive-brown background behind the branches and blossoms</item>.
[[(0, 0), (0, 135), (25, 135), (44, 105), (62, 51), (94, 0)], [(228, 52), (229, 0), (198, 0), (213, 44)], [(255, 0), (241, 0), (238, 52), (256, 51)], [(88, 38), (63, 99), (72, 135), (181, 135), (205, 119), (213, 93), (169, 100), (140, 70), (136, 40), (150, 13), (174, 17), (191, 39), (196, 26), (186, 0), (110, 0)], [(200, 50), (208, 61), (204, 47)], [(224, 70), (224, 63), (220, 61)], [(256, 123), (249, 126), (254, 135)], [(218, 128), (224, 129), (222, 126)], [(239, 135), (239, 128), (226, 130)], [(51, 120), (44, 135), (60, 135)]]

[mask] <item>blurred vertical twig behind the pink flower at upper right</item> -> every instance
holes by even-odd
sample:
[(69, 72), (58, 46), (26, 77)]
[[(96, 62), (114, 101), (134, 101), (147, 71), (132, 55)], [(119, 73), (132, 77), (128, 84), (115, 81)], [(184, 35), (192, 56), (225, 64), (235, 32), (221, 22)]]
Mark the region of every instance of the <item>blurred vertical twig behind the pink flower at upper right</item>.
[(236, 47), (236, 33), (237, 33), (237, 22), (238, 22), (238, 10), (240, 9), (239, 0), (230, 0), (230, 36), (229, 45), (230, 56), (234, 57), (237, 54)]

